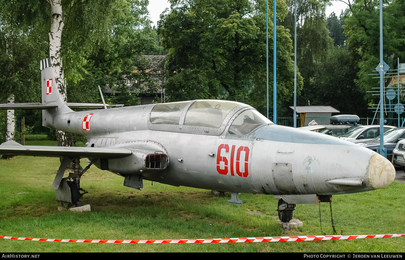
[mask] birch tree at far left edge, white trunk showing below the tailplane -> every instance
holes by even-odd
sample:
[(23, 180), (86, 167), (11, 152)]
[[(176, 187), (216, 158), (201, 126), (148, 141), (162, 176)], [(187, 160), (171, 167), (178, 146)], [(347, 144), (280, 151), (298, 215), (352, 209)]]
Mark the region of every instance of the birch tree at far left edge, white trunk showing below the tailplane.
[[(20, 7), (19, 3), (16, 5)], [(40, 72), (35, 57), (47, 51), (45, 39), (49, 28), (20, 20), (21, 14), (11, 6), (13, 2), (0, 1), (0, 100), (2, 103), (38, 102)], [(38, 21), (34, 19), (34, 23)], [(7, 110), (6, 140), (14, 139), (14, 118), (14, 110)]]

